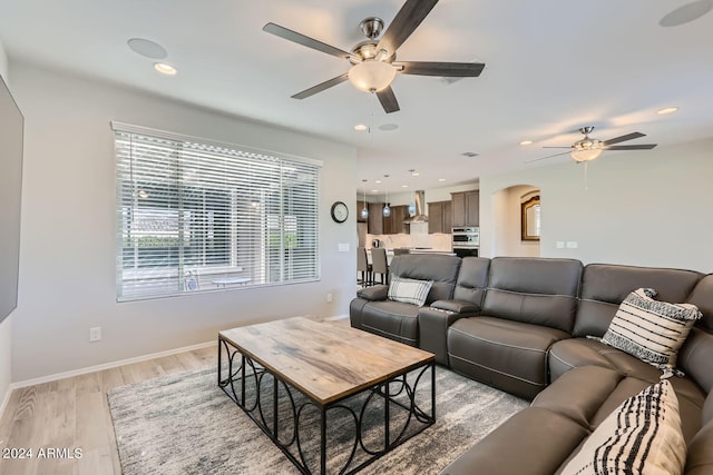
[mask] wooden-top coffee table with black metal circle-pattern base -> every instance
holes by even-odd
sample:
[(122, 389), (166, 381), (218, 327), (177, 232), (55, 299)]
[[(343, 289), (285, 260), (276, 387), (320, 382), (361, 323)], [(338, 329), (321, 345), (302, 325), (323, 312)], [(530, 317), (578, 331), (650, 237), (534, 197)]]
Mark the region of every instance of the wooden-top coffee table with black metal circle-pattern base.
[[(219, 387), (304, 474), (326, 474), (328, 449), (335, 453), (328, 429), (348, 439), (349, 455), (330, 471), (352, 474), (432, 425), (433, 362), (431, 353), (306, 317), (218, 333)], [(319, 454), (305, 449), (314, 439)]]

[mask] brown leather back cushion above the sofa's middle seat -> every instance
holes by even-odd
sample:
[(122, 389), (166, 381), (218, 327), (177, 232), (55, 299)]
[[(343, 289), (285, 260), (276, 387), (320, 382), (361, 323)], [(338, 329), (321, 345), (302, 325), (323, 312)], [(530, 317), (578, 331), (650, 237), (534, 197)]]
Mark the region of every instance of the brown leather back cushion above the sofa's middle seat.
[(580, 277), (575, 259), (496, 257), (481, 315), (572, 331)]

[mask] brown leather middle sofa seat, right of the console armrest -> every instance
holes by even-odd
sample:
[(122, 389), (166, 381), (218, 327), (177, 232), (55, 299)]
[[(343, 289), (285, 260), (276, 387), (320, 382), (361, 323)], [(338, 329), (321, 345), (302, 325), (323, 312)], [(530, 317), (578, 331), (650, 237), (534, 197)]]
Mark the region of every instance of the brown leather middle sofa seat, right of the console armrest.
[(453, 369), (531, 399), (548, 382), (547, 350), (565, 331), (494, 317), (461, 318), (448, 329)]

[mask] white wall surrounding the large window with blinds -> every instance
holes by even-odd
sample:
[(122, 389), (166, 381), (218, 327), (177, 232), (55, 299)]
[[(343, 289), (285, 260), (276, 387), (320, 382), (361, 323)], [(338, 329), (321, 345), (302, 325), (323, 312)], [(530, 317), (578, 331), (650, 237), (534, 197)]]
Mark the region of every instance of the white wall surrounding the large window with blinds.
[[(329, 216), (334, 200), (353, 202), (354, 149), (33, 66), (13, 63), (12, 77), (26, 117), (16, 382), (211, 342), (238, 325), (348, 314), (355, 220)], [(117, 304), (110, 120), (323, 160), (321, 281)], [(95, 326), (102, 340), (90, 344)]]

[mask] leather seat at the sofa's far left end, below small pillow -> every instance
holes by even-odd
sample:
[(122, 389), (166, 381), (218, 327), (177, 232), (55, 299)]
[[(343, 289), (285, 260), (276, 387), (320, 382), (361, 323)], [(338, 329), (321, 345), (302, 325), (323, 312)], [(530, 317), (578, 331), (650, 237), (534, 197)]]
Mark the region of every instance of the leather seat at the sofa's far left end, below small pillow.
[(361, 328), (410, 346), (418, 346), (419, 308), (402, 301), (370, 301), (362, 308)]

